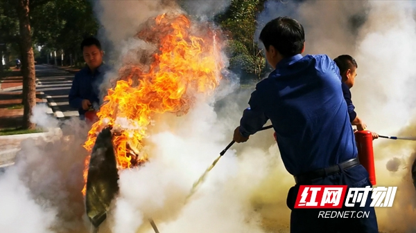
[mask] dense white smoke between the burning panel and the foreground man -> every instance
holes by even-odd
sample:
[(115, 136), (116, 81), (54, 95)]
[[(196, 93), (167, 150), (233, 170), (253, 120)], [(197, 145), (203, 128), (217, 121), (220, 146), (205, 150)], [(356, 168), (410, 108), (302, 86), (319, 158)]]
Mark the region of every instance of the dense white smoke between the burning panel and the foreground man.
[(276, 157), (260, 149), (236, 157), (230, 149), (185, 205), (193, 182), (223, 150), (230, 139), (225, 131), (232, 128), (224, 128), (207, 104), (198, 105), (180, 123), (150, 136), (153, 156), (144, 167), (121, 172), (113, 232), (135, 232), (142, 222), (149, 227), (149, 217), (161, 232), (262, 232), (250, 199)]

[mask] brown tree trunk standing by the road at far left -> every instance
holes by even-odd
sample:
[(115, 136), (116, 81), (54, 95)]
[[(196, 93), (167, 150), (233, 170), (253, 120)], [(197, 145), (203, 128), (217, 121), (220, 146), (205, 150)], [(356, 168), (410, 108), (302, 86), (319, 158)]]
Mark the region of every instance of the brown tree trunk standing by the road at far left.
[(33, 107), (36, 105), (36, 77), (35, 57), (33, 55), (31, 23), (29, 21), (29, 0), (17, 1), (17, 14), (19, 15), (21, 73), (23, 75), (23, 125), (24, 129), (35, 129), (31, 122)]

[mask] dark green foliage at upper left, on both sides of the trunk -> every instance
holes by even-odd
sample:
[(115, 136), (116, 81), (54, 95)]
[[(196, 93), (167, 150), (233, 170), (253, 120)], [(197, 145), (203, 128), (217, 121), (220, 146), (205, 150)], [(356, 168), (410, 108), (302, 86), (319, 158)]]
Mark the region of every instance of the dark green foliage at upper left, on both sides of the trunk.
[[(98, 21), (88, 0), (31, 0), (29, 8), (33, 45), (46, 51), (64, 50), (65, 55), (77, 58), (83, 38), (98, 31)], [(0, 1), (0, 44), (8, 48), (3, 53), (10, 53), (18, 38), (15, 0)]]

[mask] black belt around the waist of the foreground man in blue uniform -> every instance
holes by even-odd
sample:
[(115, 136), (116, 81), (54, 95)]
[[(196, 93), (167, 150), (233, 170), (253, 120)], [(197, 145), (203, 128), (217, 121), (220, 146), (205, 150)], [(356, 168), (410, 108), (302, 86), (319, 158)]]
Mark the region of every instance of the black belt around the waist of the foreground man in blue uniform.
[(299, 183), (309, 183), (311, 180), (315, 180), (318, 178), (323, 178), (324, 176), (329, 176), (332, 174), (336, 174), (340, 172), (340, 169), (345, 170), (350, 167), (354, 167), (356, 165), (359, 165), (360, 162), (358, 161), (358, 158), (352, 158), (350, 160), (347, 160), (345, 162), (341, 162), (338, 165), (333, 165), (331, 167), (326, 167), (322, 169), (317, 169), (315, 171), (308, 171), (304, 174), (300, 174), (298, 176), (295, 176), (295, 182), (297, 184)]

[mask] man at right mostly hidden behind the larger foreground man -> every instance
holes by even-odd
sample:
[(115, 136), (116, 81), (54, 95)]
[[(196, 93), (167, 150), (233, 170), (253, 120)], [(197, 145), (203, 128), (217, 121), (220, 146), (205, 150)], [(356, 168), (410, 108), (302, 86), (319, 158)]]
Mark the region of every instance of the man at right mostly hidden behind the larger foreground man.
[[(349, 121), (352, 125), (355, 125), (358, 131), (365, 130), (367, 125), (358, 118), (357, 113), (354, 111), (355, 106), (352, 104), (352, 95), (351, 91), (349, 91), (352, 86), (354, 86), (355, 78), (357, 76), (357, 68), (358, 64), (356, 60), (351, 57), (350, 55), (340, 55), (333, 59), (333, 62), (336, 63), (338, 68), (340, 69), (340, 75), (342, 78), (342, 88), (344, 93), (345, 102), (347, 102), (348, 106), (348, 114), (349, 114)], [(377, 133), (372, 132), (373, 139), (379, 138)]]

